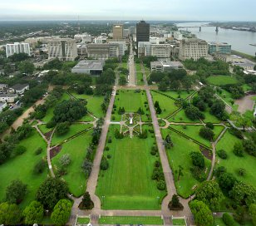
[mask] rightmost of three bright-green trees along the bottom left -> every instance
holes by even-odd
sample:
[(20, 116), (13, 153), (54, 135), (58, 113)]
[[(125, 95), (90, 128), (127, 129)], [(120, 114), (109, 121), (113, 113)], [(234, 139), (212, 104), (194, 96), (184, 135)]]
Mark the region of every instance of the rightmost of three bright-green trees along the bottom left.
[(55, 205), (51, 214), (52, 222), (56, 225), (64, 225), (68, 221), (71, 214), (72, 204), (67, 199), (61, 199)]

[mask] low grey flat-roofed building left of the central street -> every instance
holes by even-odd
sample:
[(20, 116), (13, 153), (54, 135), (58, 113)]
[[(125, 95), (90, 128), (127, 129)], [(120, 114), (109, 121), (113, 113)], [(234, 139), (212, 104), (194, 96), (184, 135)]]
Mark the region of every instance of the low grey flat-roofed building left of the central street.
[(91, 76), (99, 76), (103, 71), (105, 61), (102, 60), (84, 60), (78, 62), (76, 66), (71, 69), (72, 73), (90, 74)]

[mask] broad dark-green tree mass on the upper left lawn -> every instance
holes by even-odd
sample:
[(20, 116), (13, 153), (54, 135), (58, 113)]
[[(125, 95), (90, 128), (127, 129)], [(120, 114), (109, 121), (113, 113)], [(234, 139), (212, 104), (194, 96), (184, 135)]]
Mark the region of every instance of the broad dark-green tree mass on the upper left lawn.
[(53, 111), (53, 120), (56, 122), (73, 122), (86, 115), (87, 109), (81, 101), (62, 101)]

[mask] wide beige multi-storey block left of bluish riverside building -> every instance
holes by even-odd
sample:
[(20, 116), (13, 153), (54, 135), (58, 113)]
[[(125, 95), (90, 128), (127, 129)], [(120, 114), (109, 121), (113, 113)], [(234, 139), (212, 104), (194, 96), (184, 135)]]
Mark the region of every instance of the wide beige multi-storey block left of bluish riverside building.
[(198, 38), (185, 38), (180, 41), (179, 58), (184, 61), (186, 59), (194, 59), (197, 61), (201, 57), (208, 54), (208, 43)]

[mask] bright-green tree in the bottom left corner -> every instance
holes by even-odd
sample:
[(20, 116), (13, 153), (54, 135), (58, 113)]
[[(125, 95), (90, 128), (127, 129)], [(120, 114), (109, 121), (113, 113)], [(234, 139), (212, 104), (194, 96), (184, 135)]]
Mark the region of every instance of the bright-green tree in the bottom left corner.
[(21, 212), (17, 204), (0, 204), (0, 223), (5, 225), (17, 225), (21, 221)]

